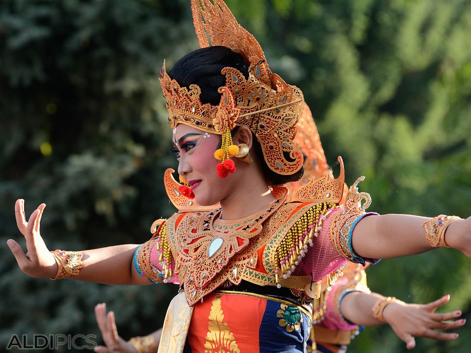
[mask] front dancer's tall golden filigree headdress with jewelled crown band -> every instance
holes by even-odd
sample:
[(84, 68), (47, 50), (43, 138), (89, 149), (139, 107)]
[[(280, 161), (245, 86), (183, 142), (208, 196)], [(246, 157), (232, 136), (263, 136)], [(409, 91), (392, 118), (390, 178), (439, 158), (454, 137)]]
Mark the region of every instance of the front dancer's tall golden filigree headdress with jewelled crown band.
[(303, 166), (302, 153), (293, 142), (304, 103), (301, 90), (271, 73), (260, 44), (237, 23), (224, 1), (191, 0), (191, 9), (201, 48), (225, 46), (240, 53), (249, 63), (249, 77), (234, 68), (224, 68), (221, 73), (226, 76), (226, 85), (219, 88), (221, 101), (212, 106), (200, 101), (197, 85), (186, 88), (172, 80), (164, 63), (160, 85), (170, 126), (181, 123), (220, 135), (237, 125), (248, 126), (260, 141), (272, 171), (296, 173)]

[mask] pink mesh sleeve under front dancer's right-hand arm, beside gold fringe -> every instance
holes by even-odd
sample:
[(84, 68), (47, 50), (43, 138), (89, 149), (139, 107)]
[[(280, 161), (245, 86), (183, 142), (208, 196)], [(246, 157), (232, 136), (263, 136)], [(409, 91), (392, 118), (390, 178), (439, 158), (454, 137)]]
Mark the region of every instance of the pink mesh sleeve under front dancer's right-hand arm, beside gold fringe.
[(308, 248), (308, 253), (296, 266), (294, 276), (312, 275), (313, 281), (318, 281), (347, 262), (330, 242), (329, 227), (335, 212), (340, 212), (340, 209), (332, 211), (322, 222), (319, 235), (313, 238), (314, 246)]

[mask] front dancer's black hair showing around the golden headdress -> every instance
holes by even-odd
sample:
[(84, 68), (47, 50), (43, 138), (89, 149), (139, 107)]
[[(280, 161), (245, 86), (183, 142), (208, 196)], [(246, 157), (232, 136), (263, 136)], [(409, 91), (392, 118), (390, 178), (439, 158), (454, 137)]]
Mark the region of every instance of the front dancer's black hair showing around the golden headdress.
[[(197, 84), (201, 88), (200, 99), (202, 103), (219, 104), (221, 94), (217, 91), (219, 87), (226, 85), (226, 76), (221, 74), (225, 67), (237, 69), (248, 78), (248, 64), (244, 57), (235, 51), (222, 47), (214, 46), (194, 50), (183, 56), (173, 66), (168, 76), (175, 79), (180, 86), (187, 87), (191, 84)], [(236, 130), (233, 130), (233, 133)], [(262, 165), (262, 172), (267, 183), (271, 186), (283, 185), (290, 181), (297, 181), (304, 174), (304, 167), (291, 175), (280, 175), (273, 172), (263, 158), (262, 147), (259, 140), (253, 135), (253, 149)], [(285, 158), (289, 158), (288, 152), (283, 152)]]

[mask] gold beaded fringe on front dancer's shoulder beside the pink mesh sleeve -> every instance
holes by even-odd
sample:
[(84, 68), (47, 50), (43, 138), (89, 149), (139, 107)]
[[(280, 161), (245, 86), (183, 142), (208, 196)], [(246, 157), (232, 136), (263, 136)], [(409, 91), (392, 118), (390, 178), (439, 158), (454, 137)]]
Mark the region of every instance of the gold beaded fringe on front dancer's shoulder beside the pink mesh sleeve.
[(279, 269), (275, 270), (276, 286), (281, 288), (279, 276), (288, 278), (294, 271), (299, 261), (306, 256), (308, 245), (314, 246), (313, 238), (319, 235), (322, 229), (322, 221), (332, 212), (334, 203), (318, 203), (310, 208), (288, 230), (285, 238), (276, 250), (276, 260)]

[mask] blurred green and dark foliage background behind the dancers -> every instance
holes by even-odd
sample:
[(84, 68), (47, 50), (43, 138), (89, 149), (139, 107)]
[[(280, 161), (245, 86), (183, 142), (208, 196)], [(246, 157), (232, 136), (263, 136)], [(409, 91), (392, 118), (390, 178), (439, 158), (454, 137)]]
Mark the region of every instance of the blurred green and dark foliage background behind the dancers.
[[(227, 0), (272, 71), (302, 88), (328, 160), (380, 213), (471, 214), (471, 1)], [(116, 311), (124, 338), (160, 327), (174, 286), (105, 286), (29, 278), (6, 239), (13, 204), (48, 206), (51, 249), (141, 243), (173, 213), (163, 171), (176, 167), (158, 87), (198, 48), (187, 0), (0, 2), (0, 350), (12, 334), (96, 334), (93, 306)], [(382, 261), (372, 290), (471, 319), (471, 261), (442, 250)], [(415, 352), (468, 352), (418, 339)], [(98, 338), (100, 340), (100, 337)], [(403, 352), (391, 328), (368, 328), (352, 352)]]

